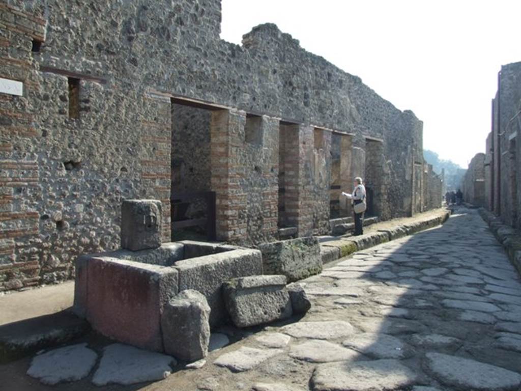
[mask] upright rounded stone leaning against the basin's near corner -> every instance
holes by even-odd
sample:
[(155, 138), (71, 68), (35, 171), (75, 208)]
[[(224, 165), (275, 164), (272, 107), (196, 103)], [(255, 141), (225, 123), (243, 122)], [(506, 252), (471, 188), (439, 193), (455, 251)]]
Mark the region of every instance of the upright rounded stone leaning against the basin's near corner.
[(187, 289), (170, 299), (161, 315), (165, 353), (183, 361), (197, 361), (208, 354), (210, 307), (206, 297)]

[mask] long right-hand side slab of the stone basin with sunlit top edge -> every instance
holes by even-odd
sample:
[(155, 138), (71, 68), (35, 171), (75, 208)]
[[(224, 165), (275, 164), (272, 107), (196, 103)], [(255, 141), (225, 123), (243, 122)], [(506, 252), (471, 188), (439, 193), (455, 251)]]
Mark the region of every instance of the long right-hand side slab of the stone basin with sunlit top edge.
[(222, 284), (231, 278), (261, 275), (262, 256), (258, 250), (237, 249), (212, 256), (201, 256), (176, 262), (179, 291), (194, 289), (208, 301), (210, 326), (223, 323), (228, 313), (222, 298)]

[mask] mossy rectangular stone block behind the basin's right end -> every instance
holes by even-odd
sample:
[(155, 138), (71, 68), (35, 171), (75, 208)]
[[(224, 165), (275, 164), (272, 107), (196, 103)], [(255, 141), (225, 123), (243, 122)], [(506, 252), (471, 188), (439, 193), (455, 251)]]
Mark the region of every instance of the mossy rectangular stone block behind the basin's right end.
[(259, 250), (262, 251), (264, 274), (282, 274), (289, 282), (294, 282), (322, 271), (316, 237), (265, 243)]

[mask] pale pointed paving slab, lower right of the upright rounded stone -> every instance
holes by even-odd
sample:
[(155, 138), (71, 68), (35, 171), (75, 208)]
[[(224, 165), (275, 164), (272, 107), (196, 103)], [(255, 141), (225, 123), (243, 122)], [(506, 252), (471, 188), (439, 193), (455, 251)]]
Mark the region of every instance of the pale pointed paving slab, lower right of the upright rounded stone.
[(224, 353), (214, 361), (214, 364), (226, 366), (232, 372), (244, 372), (282, 352), (282, 349), (257, 349), (243, 346), (238, 350)]

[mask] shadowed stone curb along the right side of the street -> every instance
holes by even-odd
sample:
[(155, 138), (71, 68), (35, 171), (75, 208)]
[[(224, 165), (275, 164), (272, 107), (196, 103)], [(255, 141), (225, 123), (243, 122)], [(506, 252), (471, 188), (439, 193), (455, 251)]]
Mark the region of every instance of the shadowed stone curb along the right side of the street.
[(521, 232), (504, 224), (501, 218), (483, 207), (478, 209), (481, 218), (488, 224), (492, 234), (505, 249), (508, 259), (521, 276)]

